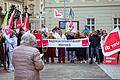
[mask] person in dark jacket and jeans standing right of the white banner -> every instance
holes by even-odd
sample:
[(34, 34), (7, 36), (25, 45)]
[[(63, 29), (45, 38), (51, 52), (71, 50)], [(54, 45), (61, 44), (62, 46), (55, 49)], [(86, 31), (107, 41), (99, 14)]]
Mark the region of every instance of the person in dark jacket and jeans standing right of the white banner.
[(93, 31), (92, 36), (89, 38), (90, 46), (91, 46), (91, 60), (90, 64), (93, 63), (93, 53), (95, 51), (96, 62), (100, 64), (100, 56), (99, 56), (99, 46), (100, 46), (100, 37), (97, 35), (96, 31)]

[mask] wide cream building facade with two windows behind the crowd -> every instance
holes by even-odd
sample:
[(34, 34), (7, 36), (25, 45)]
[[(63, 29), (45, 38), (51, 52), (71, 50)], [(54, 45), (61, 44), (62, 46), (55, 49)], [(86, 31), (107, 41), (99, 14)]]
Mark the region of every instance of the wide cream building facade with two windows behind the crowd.
[(48, 29), (59, 26), (59, 21), (64, 20), (54, 17), (54, 9), (67, 18), (71, 7), (74, 20), (79, 21), (80, 32), (85, 25), (91, 31), (105, 29), (107, 32), (120, 26), (120, 0), (45, 0), (45, 25)]

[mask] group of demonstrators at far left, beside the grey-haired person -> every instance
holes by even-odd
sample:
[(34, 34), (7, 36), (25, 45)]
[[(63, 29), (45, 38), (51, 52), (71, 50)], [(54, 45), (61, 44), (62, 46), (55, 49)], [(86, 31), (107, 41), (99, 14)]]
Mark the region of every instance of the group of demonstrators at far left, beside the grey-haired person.
[[(8, 72), (12, 72), (14, 71), (12, 64), (13, 51), (17, 46), (21, 45), (21, 37), (26, 32), (22, 28), (19, 29), (18, 33), (16, 33), (15, 29), (10, 29), (9, 31), (9, 34), (6, 34), (6, 32), (3, 32), (2, 28), (0, 28), (0, 66), (4, 66)], [(37, 47), (36, 39), (32, 47)]]

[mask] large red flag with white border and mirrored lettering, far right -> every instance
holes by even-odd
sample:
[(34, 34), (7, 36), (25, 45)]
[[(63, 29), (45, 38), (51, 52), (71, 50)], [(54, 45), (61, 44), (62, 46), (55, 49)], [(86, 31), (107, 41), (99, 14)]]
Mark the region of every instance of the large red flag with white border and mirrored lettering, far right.
[(120, 31), (115, 28), (101, 41), (101, 47), (104, 56), (110, 56), (120, 51)]

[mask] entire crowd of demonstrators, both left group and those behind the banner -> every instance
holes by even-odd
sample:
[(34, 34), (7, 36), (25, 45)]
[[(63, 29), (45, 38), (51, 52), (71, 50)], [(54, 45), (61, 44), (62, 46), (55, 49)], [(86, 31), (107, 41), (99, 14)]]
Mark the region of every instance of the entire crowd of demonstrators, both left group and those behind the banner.
[[(37, 47), (40, 51), (40, 53), (44, 53), (44, 62), (49, 63), (49, 58), (51, 58), (51, 63), (55, 62), (55, 57), (57, 57), (58, 63), (65, 63), (67, 56), (70, 63), (74, 63), (77, 59), (81, 63), (88, 63), (88, 60), (90, 59), (89, 63), (92, 64), (94, 61), (94, 58), (96, 59), (96, 62), (99, 64), (103, 61), (103, 54), (100, 48), (100, 40), (106, 37), (107, 33), (106, 30), (96, 30), (92, 33), (80, 33), (80, 32), (66, 32), (65, 34), (62, 33), (62, 30), (58, 28), (57, 26), (52, 29), (52, 31), (48, 34), (44, 31), (38, 31), (34, 30), (33, 34), (42, 34), (42, 39), (59, 39), (59, 40), (70, 40), (70, 39), (82, 39), (82, 38), (89, 38), (90, 45), (88, 48), (61, 48), (61, 47), (37, 47), (37, 41), (34, 40), (33, 47)], [(8, 71), (14, 70), (14, 67), (12, 65), (12, 55), (13, 55), (13, 49), (17, 46), (20, 46), (21, 37), (25, 34), (24, 29), (20, 29), (19, 33), (16, 34), (14, 30), (11, 30), (10, 37), (2, 37), (2, 33), (0, 33), (0, 65), (3, 64), (3, 56), (2, 54), (4, 52), (4, 49), (2, 47), (3, 43), (6, 43), (6, 54), (7, 54), (7, 62), (8, 62)], [(66, 55), (67, 54), (67, 55)], [(102, 60), (101, 60), (102, 57)]]

